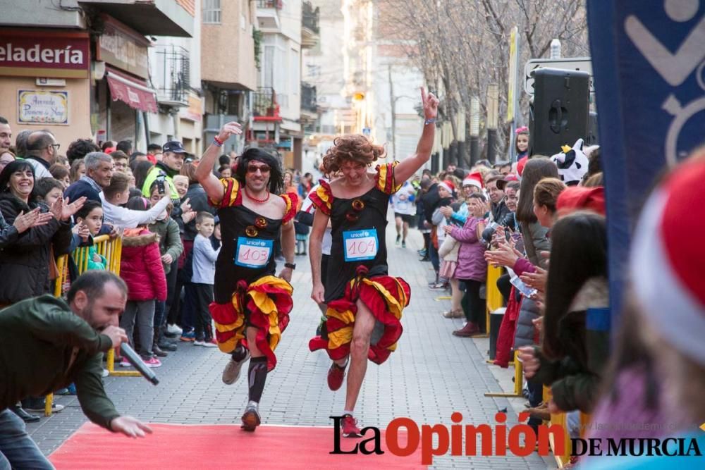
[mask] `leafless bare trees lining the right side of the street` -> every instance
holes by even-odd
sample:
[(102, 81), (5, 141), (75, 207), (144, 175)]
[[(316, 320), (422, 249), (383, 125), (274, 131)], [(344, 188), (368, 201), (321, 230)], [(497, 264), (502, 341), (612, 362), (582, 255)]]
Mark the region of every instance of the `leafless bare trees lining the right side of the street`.
[[(479, 99), (485, 116), (491, 83), (499, 85), (499, 116), (506, 115), (513, 27), (520, 34), (520, 69), (529, 58), (546, 56), (553, 38), (560, 39), (565, 56), (588, 55), (584, 1), (377, 0), (386, 23), (378, 37), (403, 44), (407, 58), (439, 92), (441, 118), (450, 120), (457, 138), (461, 130), (455, 128), (455, 116), (469, 113), (472, 97)], [(520, 112), (526, 122), (528, 97), (521, 96)], [(508, 130), (508, 125), (498, 127), (498, 155), (508, 154)]]

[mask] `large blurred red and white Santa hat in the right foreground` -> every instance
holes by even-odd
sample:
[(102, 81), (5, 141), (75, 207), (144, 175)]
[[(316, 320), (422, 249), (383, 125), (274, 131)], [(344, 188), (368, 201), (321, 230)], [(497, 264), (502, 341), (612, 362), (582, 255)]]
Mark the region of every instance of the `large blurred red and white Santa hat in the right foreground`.
[(689, 161), (646, 202), (632, 245), (630, 273), (641, 310), (659, 335), (705, 366), (705, 161)]

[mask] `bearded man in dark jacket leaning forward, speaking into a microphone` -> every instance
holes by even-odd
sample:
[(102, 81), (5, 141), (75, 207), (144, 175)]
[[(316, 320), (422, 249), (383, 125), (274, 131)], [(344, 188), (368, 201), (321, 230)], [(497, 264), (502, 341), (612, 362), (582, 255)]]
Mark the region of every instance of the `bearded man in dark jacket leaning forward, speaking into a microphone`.
[(121, 278), (88, 271), (71, 285), (68, 304), (42, 295), (0, 311), (0, 469), (54, 468), (8, 407), (72, 382), (84, 414), (94, 423), (133, 438), (152, 432), (116, 411), (101, 380), (101, 353), (127, 341), (117, 326), (126, 300)]

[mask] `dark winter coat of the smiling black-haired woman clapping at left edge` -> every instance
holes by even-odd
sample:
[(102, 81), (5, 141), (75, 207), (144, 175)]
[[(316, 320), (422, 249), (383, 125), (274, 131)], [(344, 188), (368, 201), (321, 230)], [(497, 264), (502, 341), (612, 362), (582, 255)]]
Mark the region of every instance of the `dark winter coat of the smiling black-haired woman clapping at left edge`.
[[(47, 206), (30, 202), (29, 205), (10, 192), (0, 194), (0, 212), (7, 223), (24, 211), (25, 214), (39, 205), (42, 212)], [(71, 224), (51, 218), (47, 225), (32, 227), (20, 233), (17, 240), (0, 251), (0, 304), (14, 304), (28, 297), (51, 292), (51, 258), (68, 253), (71, 247)]]

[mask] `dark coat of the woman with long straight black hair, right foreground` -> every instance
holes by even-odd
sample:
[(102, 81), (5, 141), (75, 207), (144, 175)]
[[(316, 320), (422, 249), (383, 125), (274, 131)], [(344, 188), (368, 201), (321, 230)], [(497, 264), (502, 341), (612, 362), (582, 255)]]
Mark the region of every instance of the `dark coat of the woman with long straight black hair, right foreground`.
[(592, 412), (599, 397), (601, 375), (609, 350), (609, 333), (591, 334), (586, 328), (589, 309), (609, 305), (606, 278), (590, 278), (572, 299), (568, 314), (558, 323), (558, 340), (565, 357), (550, 361), (540, 352), (534, 380), (551, 386), (553, 401), (565, 412)]

